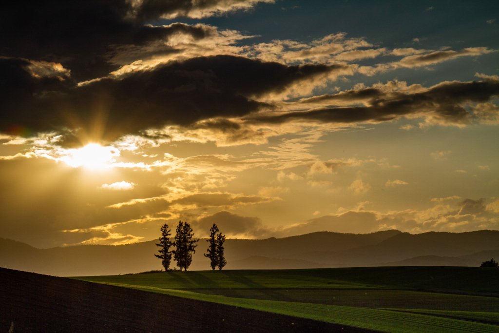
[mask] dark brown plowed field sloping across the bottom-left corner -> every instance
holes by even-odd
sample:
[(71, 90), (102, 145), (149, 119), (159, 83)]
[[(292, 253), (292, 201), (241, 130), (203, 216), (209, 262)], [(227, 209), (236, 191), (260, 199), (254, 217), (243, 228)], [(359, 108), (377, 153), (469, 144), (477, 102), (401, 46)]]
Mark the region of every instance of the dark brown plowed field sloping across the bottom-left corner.
[(0, 333), (12, 327), (16, 333), (372, 332), (0, 268)]

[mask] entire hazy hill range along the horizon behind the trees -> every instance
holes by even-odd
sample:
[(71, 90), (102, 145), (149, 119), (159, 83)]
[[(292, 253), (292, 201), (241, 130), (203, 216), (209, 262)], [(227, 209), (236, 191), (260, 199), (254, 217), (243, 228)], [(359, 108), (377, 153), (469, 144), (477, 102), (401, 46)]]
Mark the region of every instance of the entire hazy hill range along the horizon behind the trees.
[[(56, 276), (117, 275), (161, 270), (156, 241), (36, 249), (0, 238), (0, 267)], [(209, 270), (208, 243), (199, 241), (190, 270)], [(371, 234), (316, 232), (263, 240), (228, 239), (226, 269), (295, 269), (360, 266), (480, 266), (499, 259), (499, 231), (398, 230)], [(175, 263), (173, 263), (175, 264)], [(173, 265), (172, 265), (173, 268)]]

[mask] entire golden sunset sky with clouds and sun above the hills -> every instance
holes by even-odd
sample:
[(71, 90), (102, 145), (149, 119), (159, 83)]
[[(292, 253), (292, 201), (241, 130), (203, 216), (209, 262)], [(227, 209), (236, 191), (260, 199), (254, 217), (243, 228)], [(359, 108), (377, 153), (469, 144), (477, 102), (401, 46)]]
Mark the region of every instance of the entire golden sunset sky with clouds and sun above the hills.
[(0, 5), (0, 237), (499, 230), (499, 2)]

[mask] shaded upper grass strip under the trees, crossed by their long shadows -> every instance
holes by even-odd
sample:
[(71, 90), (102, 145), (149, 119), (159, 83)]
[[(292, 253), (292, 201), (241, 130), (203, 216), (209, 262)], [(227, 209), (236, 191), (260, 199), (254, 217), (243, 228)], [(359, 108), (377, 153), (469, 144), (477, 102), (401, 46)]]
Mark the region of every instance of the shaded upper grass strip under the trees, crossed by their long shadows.
[(74, 279), (170, 289), (404, 289), (499, 296), (499, 270), (479, 267), (353, 267), (223, 270), (89, 276)]

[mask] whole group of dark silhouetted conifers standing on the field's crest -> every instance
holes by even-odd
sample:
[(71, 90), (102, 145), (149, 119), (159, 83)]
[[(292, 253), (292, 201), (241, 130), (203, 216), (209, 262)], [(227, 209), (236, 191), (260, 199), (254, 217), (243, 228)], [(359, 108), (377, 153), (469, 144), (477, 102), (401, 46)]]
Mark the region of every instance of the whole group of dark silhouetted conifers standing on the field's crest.
[[(196, 247), (198, 246), (199, 239), (194, 238), (194, 231), (188, 222), (179, 221), (177, 229), (175, 232), (175, 238), (172, 242), (170, 239), (171, 229), (165, 223), (161, 227), (161, 236), (159, 238), (159, 243), (156, 245), (159, 247), (158, 253), (154, 256), (161, 259), (161, 263), (165, 268), (165, 271), (170, 270), (170, 264), (173, 259), (177, 262), (177, 266), (180, 271), (184, 269), (187, 271), (192, 263), (192, 255), (196, 253)], [(225, 235), (222, 235), (217, 225), (214, 223), (210, 229), (210, 238), (207, 240), (209, 246), (205, 257), (210, 258), (210, 266), (212, 270), (217, 267), (219, 270), (227, 265), (227, 261), (224, 255), (224, 242)], [(170, 250), (174, 246), (175, 250)]]

